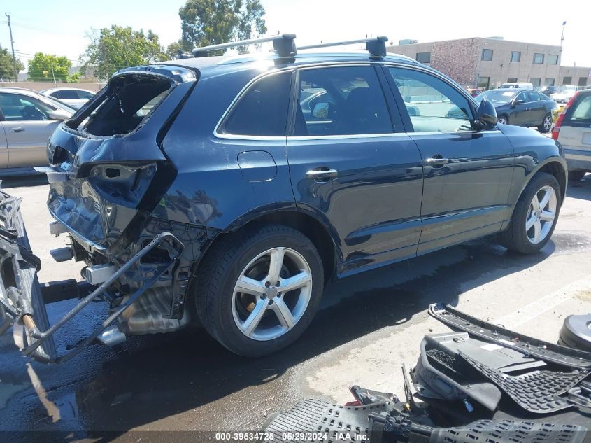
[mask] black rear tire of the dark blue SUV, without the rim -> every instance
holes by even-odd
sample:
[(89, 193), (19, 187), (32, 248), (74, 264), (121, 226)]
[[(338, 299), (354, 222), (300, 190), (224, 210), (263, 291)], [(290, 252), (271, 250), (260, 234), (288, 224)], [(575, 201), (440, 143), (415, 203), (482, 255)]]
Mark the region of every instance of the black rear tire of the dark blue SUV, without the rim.
[[(277, 247), (291, 248), (306, 260), (312, 290), (304, 314), (290, 330), (259, 341), (243, 334), (234, 321), (234, 286), (257, 255)], [(324, 290), (322, 260), (315, 246), (304, 234), (284, 225), (259, 225), (226, 234), (208, 251), (197, 273), (195, 307), (201, 323), (220, 344), (245, 357), (265, 356), (292, 344), (311, 323)]]

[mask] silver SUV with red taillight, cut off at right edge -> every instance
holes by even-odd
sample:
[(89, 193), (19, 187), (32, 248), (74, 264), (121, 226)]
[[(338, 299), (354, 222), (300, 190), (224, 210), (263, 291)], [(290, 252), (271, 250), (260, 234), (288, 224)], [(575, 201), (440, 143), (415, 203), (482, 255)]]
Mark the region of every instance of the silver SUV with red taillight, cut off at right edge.
[(552, 138), (564, 148), (571, 181), (591, 172), (591, 90), (576, 92), (558, 116)]

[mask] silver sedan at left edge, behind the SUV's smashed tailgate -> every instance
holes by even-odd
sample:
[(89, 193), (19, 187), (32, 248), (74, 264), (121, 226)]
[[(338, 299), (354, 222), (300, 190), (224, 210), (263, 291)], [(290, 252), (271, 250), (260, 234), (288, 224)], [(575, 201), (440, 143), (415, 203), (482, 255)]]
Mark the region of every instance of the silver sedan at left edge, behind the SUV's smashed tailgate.
[(0, 87), (0, 176), (34, 173), (48, 164), (46, 146), (76, 109), (18, 87)]

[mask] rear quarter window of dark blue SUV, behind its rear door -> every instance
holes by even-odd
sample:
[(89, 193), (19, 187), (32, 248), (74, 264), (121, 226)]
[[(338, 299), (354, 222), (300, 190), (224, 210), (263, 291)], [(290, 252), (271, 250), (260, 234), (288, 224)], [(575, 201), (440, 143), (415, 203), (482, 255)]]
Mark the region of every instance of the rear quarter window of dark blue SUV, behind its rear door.
[(292, 73), (266, 76), (251, 85), (230, 110), (223, 134), (285, 136)]

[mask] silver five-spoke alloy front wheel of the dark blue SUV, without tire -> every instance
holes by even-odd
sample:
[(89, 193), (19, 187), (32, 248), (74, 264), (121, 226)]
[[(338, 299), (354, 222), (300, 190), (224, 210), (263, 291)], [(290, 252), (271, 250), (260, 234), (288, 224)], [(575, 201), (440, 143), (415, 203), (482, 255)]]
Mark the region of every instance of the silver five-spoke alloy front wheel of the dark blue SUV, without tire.
[(552, 186), (543, 186), (534, 194), (525, 217), (525, 232), (532, 244), (548, 237), (556, 218), (556, 206), (556, 191)]

